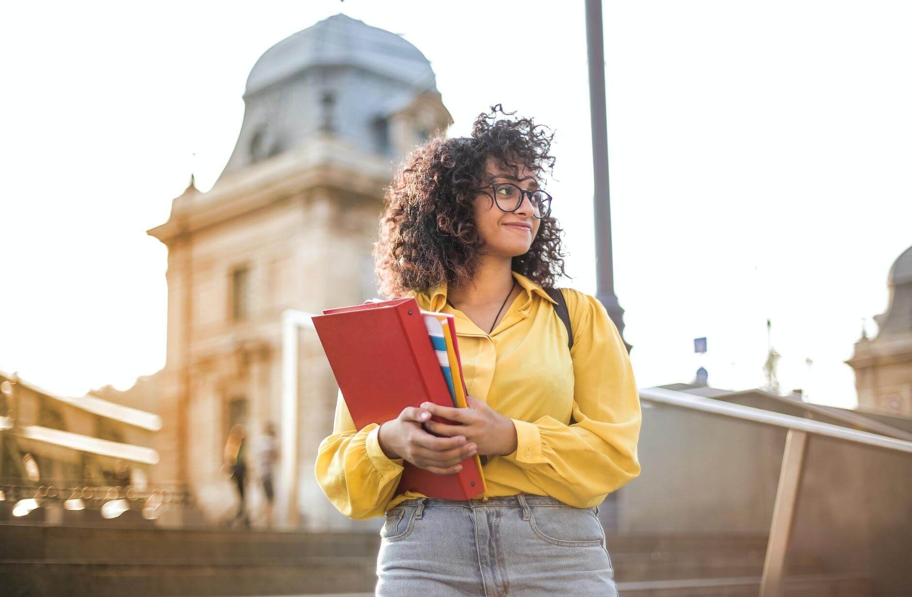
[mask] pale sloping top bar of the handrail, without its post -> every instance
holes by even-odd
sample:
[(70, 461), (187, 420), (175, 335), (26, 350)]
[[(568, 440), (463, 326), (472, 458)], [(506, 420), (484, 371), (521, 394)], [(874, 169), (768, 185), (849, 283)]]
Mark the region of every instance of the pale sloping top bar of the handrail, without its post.
[(648, 400), (649, 402), (664, 404), (670, 407), (700, 410), (713, 415), (740, 418), (753, 423), (785, 427), (788, 429), (795, 429), (796, 431), (805, 431), (818, 436), (844, 439), (845, 441), (852, 441), (858, 444), (874, 446), (876, 448), (886, 448), (899, 452), (912, 453), (912, 441), (881, 436), (868, 431), (849, 429), (807, 418), (794, 417), (793, 415), (782, 415), (782, 413), (774, 413), (769, 410), (763, 410), (762, 408), (731, 404), (730, 402), (724, 402), (716, 398), (694, 396), (693, 394), (687, 394), (685, 392), (668, 390), (664, 387), (647, 387), (640, 389), (639, 397), (642, 400)]

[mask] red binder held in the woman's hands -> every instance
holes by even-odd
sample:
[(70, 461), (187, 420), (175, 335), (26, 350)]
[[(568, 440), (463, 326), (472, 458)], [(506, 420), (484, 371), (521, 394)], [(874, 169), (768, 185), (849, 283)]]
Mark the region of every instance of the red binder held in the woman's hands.
[[(313, 318), (342, 397), (358, 430), (399, 417), (405, 407), (430, 401), (452, 407), (440, 362), (414, 297), (326, 309)], [(450, 419), (431, 420), (459, 425)], [(397, 493), (472, 499), (484, 491), (475, 458), (454, 475), (438, 475), (408, 460)]]

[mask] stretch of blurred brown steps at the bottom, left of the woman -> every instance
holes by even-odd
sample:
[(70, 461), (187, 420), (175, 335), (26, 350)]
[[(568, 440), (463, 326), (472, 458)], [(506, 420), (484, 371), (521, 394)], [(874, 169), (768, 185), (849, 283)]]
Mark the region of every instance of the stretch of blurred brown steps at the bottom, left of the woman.
[(12, 524), (0, 538), (4, 597), (372, 592), (379, 546), (373, 534)]

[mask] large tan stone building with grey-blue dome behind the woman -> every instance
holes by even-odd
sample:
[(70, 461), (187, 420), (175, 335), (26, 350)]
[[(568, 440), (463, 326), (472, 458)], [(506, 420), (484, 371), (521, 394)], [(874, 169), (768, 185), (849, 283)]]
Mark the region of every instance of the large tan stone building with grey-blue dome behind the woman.
[[(370, 252), (384, 188), (410, 149), (451, 123), (427, 58), (346, 15), (269, 48), (244, 104), (212, 190), (191, 183), (149, 231), (168, 246), (156, 480), (186, 484), (211, 521), (234, 503), (228, 429), (245, 424), (255, 448), (264, 424), (280, 422), (282, 314), (377, 295)], [(308, 474), (337, 386), (316, 334), (298, 340), (301, 524), (344, 526)]]

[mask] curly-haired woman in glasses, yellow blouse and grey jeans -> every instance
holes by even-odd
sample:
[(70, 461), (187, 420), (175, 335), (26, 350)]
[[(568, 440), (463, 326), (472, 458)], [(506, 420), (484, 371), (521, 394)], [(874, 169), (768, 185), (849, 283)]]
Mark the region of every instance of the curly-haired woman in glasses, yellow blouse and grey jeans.
[[(639, 474), (637, 386), (595, 297), (565, 289), (574, 335), (544, 291), (564, 273), (550, 197), (535, 193), (553, 135), (532, 119), (434, 138), (389, 189), (375, 245), (381, 292), (451, 313), (468, 408), (420, 402), (357, 430), (341, 396), (316, 478), (352, 519), (385, 515), (377, 594), (616, 595), (596, 514)], [(440, 415), (461, 423), (430, 422)], [(482, 457), (488, 493), (399, 493), (405, 460), (441, 475)]]

